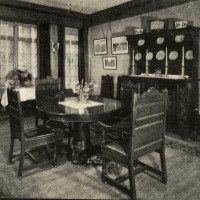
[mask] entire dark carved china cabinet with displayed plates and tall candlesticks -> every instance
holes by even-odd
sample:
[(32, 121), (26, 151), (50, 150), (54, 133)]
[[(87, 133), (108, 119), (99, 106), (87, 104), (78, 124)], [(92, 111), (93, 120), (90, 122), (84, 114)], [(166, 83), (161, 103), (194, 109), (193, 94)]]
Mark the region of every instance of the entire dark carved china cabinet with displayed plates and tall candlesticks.
[(167, 131), (192, 137), (199, 104), (199, 31), (197, 28), (157, 30), (127, 36), (130, 74), (118, 77), (123, 87), (143, 93), (149, 87), (168, 89)]

